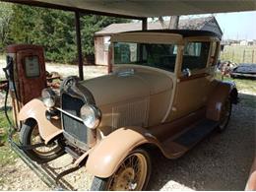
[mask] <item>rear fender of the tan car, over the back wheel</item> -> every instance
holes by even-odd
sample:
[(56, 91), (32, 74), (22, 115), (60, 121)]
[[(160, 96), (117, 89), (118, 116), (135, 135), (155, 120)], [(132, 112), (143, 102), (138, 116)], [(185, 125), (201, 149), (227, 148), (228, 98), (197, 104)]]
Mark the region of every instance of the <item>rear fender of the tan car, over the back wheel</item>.
[(237, 103), (238, 93), (233, 82), (216, 81), (214, 83), (216, 86), (208, 100), (206, 116), (208, 119), (219, 121), (226, 97), (229, 96), (232, 103)]

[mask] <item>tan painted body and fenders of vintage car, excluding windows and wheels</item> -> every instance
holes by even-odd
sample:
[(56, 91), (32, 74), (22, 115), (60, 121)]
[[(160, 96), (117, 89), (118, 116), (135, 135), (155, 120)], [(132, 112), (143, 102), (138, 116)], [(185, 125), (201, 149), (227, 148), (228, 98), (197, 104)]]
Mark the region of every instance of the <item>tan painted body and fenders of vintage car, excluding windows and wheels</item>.
[[(216, 61), (211, 63), (209, 54), (205, 69), (184, 77), (182, 51), (184, 44), (193, 40), (210, 41), (210, 52), (213, 43), (217, 43)], [(233, 91), (231, 84), (214, 77), (220, 49), (220, 40), (216, 37), (129, 32), (116, 34), (111, 41), (173, 42), (178, 45), (178, 56), (174, 73), (144, 66), (113, 65), (112, 74), (81, 82), (95, 96), (102, 117), (96, 129), (96, 146), (76, 163), (88, 158), (86, 168), (98, 177), (110, 176), (132, 150), (142, 145), (157, 146), (166, 158), (179, 158), (189, 149), (171, 139), (187, 131), (195, 119), (207, 116), (218, 121), (224, 99)], [(129, 68), (134, 70), (133, 76), (119, 76), (119, 72)], [(39, 99), (33, 99), (19, 114), (20, 120), (34, 118), (38, 122), (45, 143), (62, 133), (60, 120), (49, 122), (44, 115), (46, 110)], [(127, 126), (129, 122), (136, 126)], [(167, 138), (170, 142), (162, 143)]]

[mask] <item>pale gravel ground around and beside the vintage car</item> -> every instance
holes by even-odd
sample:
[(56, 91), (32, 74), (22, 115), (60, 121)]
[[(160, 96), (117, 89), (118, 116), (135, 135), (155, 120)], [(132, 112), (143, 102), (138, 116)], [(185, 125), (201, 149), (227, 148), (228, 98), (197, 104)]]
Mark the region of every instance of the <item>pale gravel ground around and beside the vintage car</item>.
[[(58, 65), (50, 67), (60, 72)], [(94, 75), (104, 73), (103, 67), (91, 69), (95, 69)], [(75, 72), (76, 68), (72, 66), (69, 70)], [(241, 102), (233, 105), (230, 123), (223, 134), (214, 132), (178, 160), (166, 160), (158, 151), (153, 151), (149, 190), (244, 190), (255, 156), (256, 93), (240, 94), (240, 98)], [(70, 162), (65, 156), (51, 165), (59, 170), (59, 166)], [(84, 168), (65, 177), (78, 190), (89, 190), (92, 178)], [(0, 164), (0, 190), (50, 188), (17, 159), (12, 165)]]

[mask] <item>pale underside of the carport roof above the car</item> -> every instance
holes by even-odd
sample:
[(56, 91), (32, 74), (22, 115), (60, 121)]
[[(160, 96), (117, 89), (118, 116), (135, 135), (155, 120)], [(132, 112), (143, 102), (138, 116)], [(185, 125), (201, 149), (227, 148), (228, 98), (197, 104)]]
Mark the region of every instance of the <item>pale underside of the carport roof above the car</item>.
[(256, 10), (256, 0), (4, 0), (90, 14), (147, 18)]

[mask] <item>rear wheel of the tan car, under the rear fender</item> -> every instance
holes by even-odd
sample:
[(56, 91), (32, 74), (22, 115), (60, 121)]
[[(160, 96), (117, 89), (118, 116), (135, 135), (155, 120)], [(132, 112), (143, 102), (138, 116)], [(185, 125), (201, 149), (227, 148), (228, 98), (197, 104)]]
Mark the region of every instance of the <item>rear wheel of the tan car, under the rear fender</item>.
[(224, 105), (222, 106), (221, 117), (219, 121), (220, 123), (218, 126), (218, 130), (220, 132), (223, 132), (227, 127), (230, 116), (231, 116), (231, 111), (232, 111), (232, 103), (231, 103), (230, 97), (228, 96), (224, 101)]

